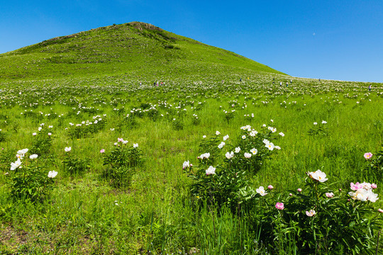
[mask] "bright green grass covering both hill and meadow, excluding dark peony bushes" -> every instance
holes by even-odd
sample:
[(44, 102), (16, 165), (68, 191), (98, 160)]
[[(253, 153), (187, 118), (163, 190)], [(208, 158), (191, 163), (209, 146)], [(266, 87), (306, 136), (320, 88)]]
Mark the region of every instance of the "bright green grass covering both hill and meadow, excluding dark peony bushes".
[[(130, 51), (116, 47), (127, 43)], [(288, 197), (304, 188), (307, 171), (321, 169), (343, 192), (350, 182), (371, 181), (383, 195), (382, 179), (361, 173), (363, 154), (382, 148), (383, 84), (368, 92), (360, 82), (292, 78), (232, 52), (132, 24), (9, 52), (0, 55), (0, 67), (1, 254), (299, 254), (298, 240), (288, 234), (267, 244), (252, 221), (257, 212), (233, 214), (190, 196), (182, 163), (197, 163), (202, 136), (218, 130), (235, 140), (243, 125), (260, 130), (265, 123), (284, 133), (277, 144), (282, 149), (251, 176), (252, 188), (272, 184)], [(143, 111), (150, 107), (157, 119)], [(223, 111), (233, 109), (227, 121)], [(131, 111), (136, 125), (126, 123)], [(65, 129), (93, 123), (96, 115), (106, 120), (98, 132), (77, 138)], [(173, 118), (182, 129), (174, 128)], [(322, 120), (328, 135), (310, 136)], [(5, 185), (10, 162), (18, 149), (31, 148), (41, 123), (53, 126), (52, 147), (38, 160), (47, 174), (58, 171), (55, 189), (40, 203), (12, 200)], [(145, 159), (123, 188), (102, 177), (100, 150), (110, 152), (118, 137), (138, 143)], [(65, 147), (89, 170), (65, 172)], [(382, 208), (381, 199), (372, 206)]]

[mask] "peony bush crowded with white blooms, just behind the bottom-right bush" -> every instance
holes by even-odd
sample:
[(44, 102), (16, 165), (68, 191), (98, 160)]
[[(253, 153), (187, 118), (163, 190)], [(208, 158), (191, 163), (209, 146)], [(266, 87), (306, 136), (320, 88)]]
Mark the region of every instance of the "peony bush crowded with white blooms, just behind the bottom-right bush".
[[(204, 153), (197, 157), (198, 164), (194, 167), (189, 161), (184, 162), (183, 169), (193, 180), (190, 190), (193, 198), (207, 200), (219, 207), (228, 205), (233, 210), (238, 203), (248, 199), (247, 193), (252, 192), (250, 177), (276, 147), (265, 138), (274, 140), (277, 135), (274, 135), (275, 128), (257, 132), (247, 125), (241, 130), (243, 132), (234, 144), (229, 135), (224, 135), (221, 140), (218, 131), (209, 139), (204, 136), (200, 144), (200, 151)], [(262, 196), (266, 194), (263, 187), (259, 191)]]

